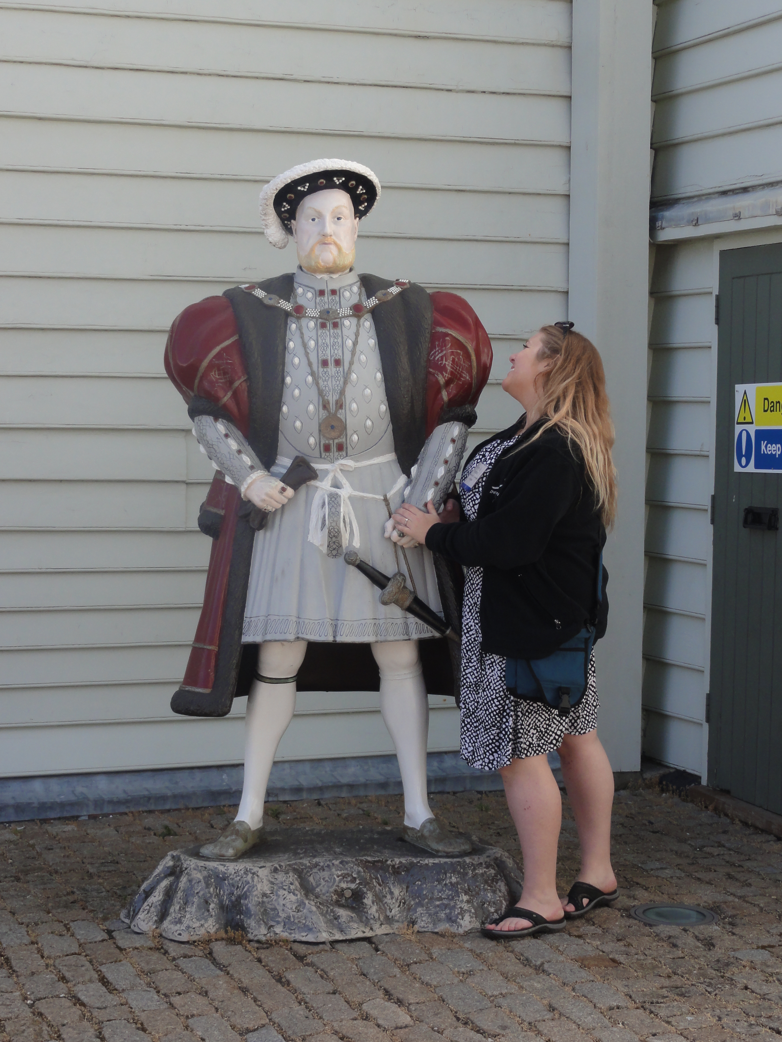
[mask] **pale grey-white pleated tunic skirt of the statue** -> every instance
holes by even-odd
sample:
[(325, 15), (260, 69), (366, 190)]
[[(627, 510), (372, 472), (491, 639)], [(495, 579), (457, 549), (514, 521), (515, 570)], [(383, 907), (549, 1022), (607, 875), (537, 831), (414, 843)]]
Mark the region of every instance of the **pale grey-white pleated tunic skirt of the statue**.
[[(431, 552), (424, 546), (407, 550), (409, 571), (401, 549), (397, 548), (397, 566), (394, 544), (384, 536), (388, 511), (383, 496), (394, 488), (402, 472), (395, 456), (386, 462), (371, 461), (388, 455), (388, 448), (389, 445), (381, 444), (353, 455), (343, 470), (357, 493), (378, 497), (349, 497), (358, 524), (359, 546), (355, 546), (356, 526), (351, 525), (345, 549), (357, 549), (364, 561), (386, 575), (402, 571), (408, 576), (408, 586), (441, 615)], [(369, 466), (360, 466), (367, 461)], [(327, 475), (322, 458), (313, 456), (310, 462), (320, 475)], [(356, 465), (353, 470), (348, 469), (350, 463)], [(272, 473), (282, 477), (287, 466), (287, 462), (278, 460)], [(333, 485), (337, 489), (341, 482), (335, 477)], [(358, 569), (346, 565), (341, 554), (327, 556), (310, 542), (313, 503), (321, 491), (312, 485), (303, 486), (285, 506), (272, 513), (266, 527), (255, 536), (242, 642), (307, 640), (361, 644), (437, 636), (395, 604), (381, 604), (381, 591)], [(336, 492), (327, 495), (333, 518), (339, 512), (340, 497)], [(391, 508), (398, 506), (401, 499), (399, 489), (390, 497)]]

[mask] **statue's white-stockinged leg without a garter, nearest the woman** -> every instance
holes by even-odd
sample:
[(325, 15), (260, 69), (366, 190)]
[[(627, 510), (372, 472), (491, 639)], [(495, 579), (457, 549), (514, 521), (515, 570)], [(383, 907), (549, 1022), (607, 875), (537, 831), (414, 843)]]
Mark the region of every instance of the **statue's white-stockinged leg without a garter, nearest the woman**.
[(381, 671), (381, 713), (399, 761), (405, 824), (420, 828), (434, 815), (426, 798), (429, 699), (417, 641), (372, 644)]

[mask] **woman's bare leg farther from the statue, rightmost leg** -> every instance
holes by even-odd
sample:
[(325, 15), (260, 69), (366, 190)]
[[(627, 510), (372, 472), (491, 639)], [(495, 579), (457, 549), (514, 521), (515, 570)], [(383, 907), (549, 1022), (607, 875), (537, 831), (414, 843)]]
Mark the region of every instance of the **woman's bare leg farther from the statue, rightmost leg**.
[[(614, 776), (596, 730), (565, 735), (559, 748), (562, 776), (572, 807), (581, 844), (578, 878), (610, 893), (616, 888), (611, 868), (611, 808)], [(566, 912), (572, 904), (562, 904)]]

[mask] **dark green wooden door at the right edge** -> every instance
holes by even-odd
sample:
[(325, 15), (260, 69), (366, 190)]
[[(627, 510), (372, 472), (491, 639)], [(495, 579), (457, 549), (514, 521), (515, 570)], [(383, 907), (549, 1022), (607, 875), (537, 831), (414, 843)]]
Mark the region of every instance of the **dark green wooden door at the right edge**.
[(779, 814), (782, 532), (744, 527), (765, 516), (744, 512), (782, 506), (782, 470), (734, 460), (736, 384), (782, 381), (782, 243), (723, 251), (718, 303), (708, 779)]

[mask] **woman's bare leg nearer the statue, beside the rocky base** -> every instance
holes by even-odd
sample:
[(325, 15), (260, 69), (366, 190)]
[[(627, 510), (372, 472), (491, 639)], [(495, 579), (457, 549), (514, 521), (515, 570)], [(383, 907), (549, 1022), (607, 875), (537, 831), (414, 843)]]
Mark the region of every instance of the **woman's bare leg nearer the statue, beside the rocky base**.
[[(562, 822), (559, 786), (544, 755), (512, 760), (499, 771), (524, 861), (517, 904), (552, 921), (562, 919), (557, 896), (557, 841)], [(507, 919), (498, 929), (526, 929), (529, 919)], [(494, 927), (489, 927), (494, 928)]]

